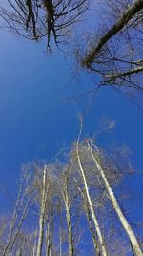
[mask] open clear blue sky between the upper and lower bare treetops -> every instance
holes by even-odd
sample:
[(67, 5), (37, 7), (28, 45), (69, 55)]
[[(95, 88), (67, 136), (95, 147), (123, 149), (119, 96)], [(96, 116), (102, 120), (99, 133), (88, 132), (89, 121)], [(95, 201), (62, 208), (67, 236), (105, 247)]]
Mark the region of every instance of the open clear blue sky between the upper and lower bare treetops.
[[(11, 188), (21, 163), (46, 159), (46, 149), (53, 155), (77, 137), (76, 115), (82, 104), (61, 99), (90, 89), (93, 82), (88, 76), (77, 82), (68, 61), (59, 53), (46, 54), (43, 43), (24, 41), (3, 30), (0, 35), (0, 182)], [(141, 190), (143, 111), (104, 88), (92, 101), (84, 134), (94, 133), (103, 116), (115, 120), (116, 127), (110, 135), (102, 135), (99, 144), (130, 147), (133, 164), (140, 170), (135, 186)], [(2, 197), (0, 204), (3, 210)]]

